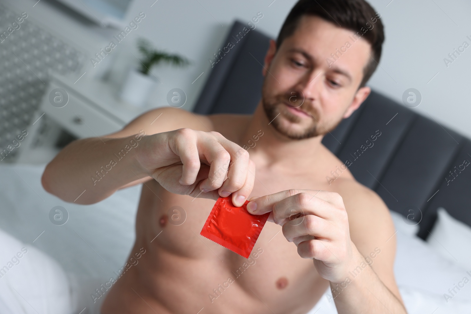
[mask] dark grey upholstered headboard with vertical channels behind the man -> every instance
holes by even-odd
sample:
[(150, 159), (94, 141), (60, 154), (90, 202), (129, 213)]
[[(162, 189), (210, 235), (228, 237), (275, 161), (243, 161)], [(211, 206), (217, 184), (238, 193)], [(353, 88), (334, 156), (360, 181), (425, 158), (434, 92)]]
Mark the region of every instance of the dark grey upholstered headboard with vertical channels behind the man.
[[(223, 47), (229, 41), (234, 47), (213, 64), (196, 113), (255, 110), (269, 37), (257, 30), (242, 37), (244, 26), (235, 21), (228, 33)], [(420, 221), (422, 239), (433, 227), (439, 207), (471, 225), (471, 168), (460, 170), (463, 161), (471, 161), (469, 139), (374, 91), (331, 133), (322, 143), (390, 209), (408, 216), (411, 224)], [(367, 147), (366, 140), (380, 133)]]

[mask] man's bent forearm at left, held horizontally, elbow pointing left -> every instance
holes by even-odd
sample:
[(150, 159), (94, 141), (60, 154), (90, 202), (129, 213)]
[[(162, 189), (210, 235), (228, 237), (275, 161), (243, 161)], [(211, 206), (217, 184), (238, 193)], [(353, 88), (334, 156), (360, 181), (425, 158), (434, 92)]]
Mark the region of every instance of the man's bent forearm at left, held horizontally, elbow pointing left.
[(134, 157), (142, 138), (137, 134), (76, 140), (47, 165), (43, 185), (65, 201), (79, 204), (101, 201), (123, 185), (146, 177)]

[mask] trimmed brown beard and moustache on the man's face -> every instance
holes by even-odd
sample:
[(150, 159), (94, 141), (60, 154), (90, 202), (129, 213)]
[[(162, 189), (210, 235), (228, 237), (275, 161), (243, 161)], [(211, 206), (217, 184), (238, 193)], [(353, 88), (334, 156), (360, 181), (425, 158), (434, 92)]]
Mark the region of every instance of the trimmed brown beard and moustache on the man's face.
[[(317, 109), (314, 106), (312, 106), (309, 100), (304, 99), (303, 95), (300, 95), (299, 93), (295, 91), (288, 92), (286, 94), (276, 95), (273, 97), (268, 97), (267, 94), (268, 93), (265, 89), (265, 84), (264, 84), (263, 89), (262, 89), (262, 99), (261, 99), (263, 109), (265, 110), (265, 114), (267, 115), (268, 121), (271, 121), (271, 124), (273, 124), (273, 127), (285, 137), (300, 140), (304, 138), (325, 135), (326, 133), (335, 129), (337, 125), (341, 122), (341, 120), (339, 120), (329, 129), (325, 129), (325, 127), (322, 126), (321, 123), (319, 122), (320, 114), (317, 111)], [(294, 101), (294, 99), (296, 101)], [(281, 120), (279, 119), (279, 117), (277, 117), (279, 114), (281, 114), (280, 107), (285, 106), (285, 104), (291, 105), (293, 108), (298, 108), (299, 106), (298, 109), (303, 110), (304, 112), (308, 113), (311, 116), (312, 124), (306, 129), (301, 130), (301, 131), (294, 131), (292, 129), (286, 128), (283, 125), (283, 123), (281, 123)], [(302, 105), (299, 105), (299, 104), (302, 104)], [(302, 119), (299, 116), (291, 113), (288, 110), (283, 110), (283, 115), (286, 120), (292, 123), (300, 123), (302, 121)]]

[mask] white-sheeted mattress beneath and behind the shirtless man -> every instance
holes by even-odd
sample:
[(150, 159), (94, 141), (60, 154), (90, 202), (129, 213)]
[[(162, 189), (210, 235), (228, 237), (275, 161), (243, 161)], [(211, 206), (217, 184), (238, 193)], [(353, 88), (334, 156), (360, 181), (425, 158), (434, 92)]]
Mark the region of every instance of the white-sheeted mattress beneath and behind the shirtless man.
[[(107, 282), (127, 258), (135, 237), (141, 185), (118, 191), (93, 205), (66, 203), (44, 191), (43, 169), (44, 166), (0, 165), (0, 229), (57, 261), (73, 289), (70, 306), (75, 313), (85, 307), (81, 314), (97, 313), (99, 303), (93, 304), (90, 294)], [(53, 225), (49, 221), (50, 209), (58, 205), (69, 213), (65, 225)], [(471, 285), (462, 288), (448, 303), (443, 297), (463, 279), (466, 271), (441, 258), (416, 237), (398, 231), (397, 239), (395, 274), (408, 312), (471, 313)], [(21, 265), (15, 267), (19, 269)], [(317, 310), (317, 314), (336, 313), (326, 296), (310, 313)], [(24, 313), (36, 313), (29, 311), (24, 309)], [(0, 312), (3, 313), (1, 308)]]

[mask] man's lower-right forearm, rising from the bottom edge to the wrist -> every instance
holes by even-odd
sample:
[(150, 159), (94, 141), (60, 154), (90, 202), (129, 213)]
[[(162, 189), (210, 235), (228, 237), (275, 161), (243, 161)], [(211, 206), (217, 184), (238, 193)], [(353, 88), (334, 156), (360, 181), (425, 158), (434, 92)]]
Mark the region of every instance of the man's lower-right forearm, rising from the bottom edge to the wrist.
[(345, 278), (344, 282), (330, 283), (337, 312), (339, 314), (406, 314), (402, 302), (384, 285), (363, 257), (357, 259), (357, 266), (360, 265), (366, 265), (365, 268), (361, 268), (361, 272), (353, 274), (350, 272), (349, 274), (352, 275)]

